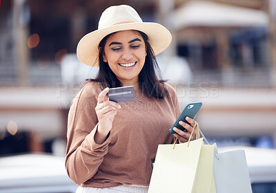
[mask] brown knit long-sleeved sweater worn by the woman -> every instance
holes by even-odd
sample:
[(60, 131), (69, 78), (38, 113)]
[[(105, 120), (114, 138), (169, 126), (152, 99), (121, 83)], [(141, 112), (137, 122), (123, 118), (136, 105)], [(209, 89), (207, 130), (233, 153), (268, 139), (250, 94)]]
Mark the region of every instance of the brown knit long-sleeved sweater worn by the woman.
[[(164, 99), (143, 96), (143, 102), (121, 102), (110, 135), (98, 145), (95, 107), (101, 92), (98, 82), (90, 82), (72, 101), (68, 114), (66, 170), (81, 186), (114, 187), (149, 185), (157, 146), (172, 143), (168, 133), (179, 116), (177, 94), (165, 84)], [(135, 98), (141, 98), (135, 91)]]

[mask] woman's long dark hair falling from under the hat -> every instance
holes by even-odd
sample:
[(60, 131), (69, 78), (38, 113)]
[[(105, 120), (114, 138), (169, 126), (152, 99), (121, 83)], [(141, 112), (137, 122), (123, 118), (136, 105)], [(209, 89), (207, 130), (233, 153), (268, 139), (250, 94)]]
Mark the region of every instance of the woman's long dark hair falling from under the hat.
[[(142, 33), (139, 30), (133, 30), (138, 35), (144, 39), (146, 44), (146, 59), (141, 72), (139, 73), (139, 86), (140, 89), (149, 97), (154, 98), (164, 98), (168, 91), (164, 87), (164, 80), (161, 80), (161, 71), (156, 62), (155, 54), (152, 50), (152, 47), (148, 43), (148, 35)], [(99, 43), (99, 72), (95, 79), (89, 79), (88, 81), (97, 81), (101, 83), (101, 86), (104, 88), (114, 88), (122, 86), (121, 82), (118, 80), (115, 73), (112, 72), (107, 62), (103, 62), (103, 52), (104, 46), (106, 45), (106, 40), (111, 33), (104, 37)], [(159, 80), (160, 78), (160, 80)]]

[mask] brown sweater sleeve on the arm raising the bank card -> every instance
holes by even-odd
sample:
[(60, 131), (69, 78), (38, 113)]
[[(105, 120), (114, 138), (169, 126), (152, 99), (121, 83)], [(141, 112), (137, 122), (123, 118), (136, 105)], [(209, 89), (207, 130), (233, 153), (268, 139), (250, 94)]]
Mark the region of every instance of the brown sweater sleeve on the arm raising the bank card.
[(66, 171), (77, 185), (97, 173), (110, 143), (110, 136), (101, 145), (94, 140), (98, 126), (95, 90), (91, 84), (86, 84), (72, 101), (68, 113)]

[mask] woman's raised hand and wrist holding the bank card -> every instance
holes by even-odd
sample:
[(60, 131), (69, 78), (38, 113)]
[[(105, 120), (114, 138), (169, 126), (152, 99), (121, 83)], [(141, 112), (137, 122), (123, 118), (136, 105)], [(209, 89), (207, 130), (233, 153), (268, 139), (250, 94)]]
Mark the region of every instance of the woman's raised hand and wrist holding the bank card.
[(114, 117), (117, 114), (118, 109), (121, 109), (121, 106), (117, 102), (108, 100), (108, 91), (109, 88), (106, 88), (99, 93), (97, 106), (95, 107), (99, 120), (98, 129), (95, 135), (95, 142), (98, 144), (101, 144), (106, 140), (106, 136), (108, 136), (108, 133), (112, 128)]

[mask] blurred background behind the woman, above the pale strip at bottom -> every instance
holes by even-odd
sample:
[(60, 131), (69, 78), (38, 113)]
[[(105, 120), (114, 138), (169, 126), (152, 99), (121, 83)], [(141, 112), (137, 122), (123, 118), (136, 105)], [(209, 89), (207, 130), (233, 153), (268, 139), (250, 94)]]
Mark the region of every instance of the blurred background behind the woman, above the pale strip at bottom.
[(181, 109), (203, 102), (197, 121), (210, 143), (275, 150), (276, 1), (1, 0), (1, 157), (64, 156), (70, 102), (97, 74), (77, 44), (119, 4), (172, 33), (157, 62)]

